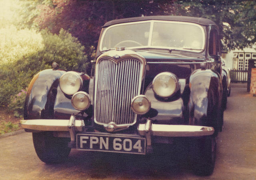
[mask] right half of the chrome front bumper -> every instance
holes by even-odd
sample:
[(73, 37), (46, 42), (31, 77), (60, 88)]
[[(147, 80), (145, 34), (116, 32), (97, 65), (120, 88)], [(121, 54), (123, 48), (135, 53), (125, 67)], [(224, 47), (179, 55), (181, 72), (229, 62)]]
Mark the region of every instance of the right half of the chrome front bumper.
[[(139, 124), (138, 133), (142, 136), (146, 135), (146, 127), (148, 124)], [(194, 137), (208, 136), (214, 133), (213, 127), (197, 126), (197, 125), (164, 125), (151, 124), (151, 135), (162, 137)]]

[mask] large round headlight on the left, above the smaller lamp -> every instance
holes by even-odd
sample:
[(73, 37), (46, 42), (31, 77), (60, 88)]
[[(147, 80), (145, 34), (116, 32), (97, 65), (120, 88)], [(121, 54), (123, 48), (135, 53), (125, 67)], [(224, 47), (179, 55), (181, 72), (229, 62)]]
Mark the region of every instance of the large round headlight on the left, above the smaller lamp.
[(60, 77), (60, 89), (68, 95), (75, 94), (82, 87), (81, 76), (74, 71), (69, 71)]

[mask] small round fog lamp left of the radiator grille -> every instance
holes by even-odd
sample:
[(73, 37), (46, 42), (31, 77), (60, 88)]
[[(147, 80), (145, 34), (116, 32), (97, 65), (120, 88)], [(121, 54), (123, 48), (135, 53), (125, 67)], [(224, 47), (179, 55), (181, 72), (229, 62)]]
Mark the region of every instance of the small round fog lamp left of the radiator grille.
[(91, 104), (89, 94), (83, 91), (76, 92), (71, 99), (71, 103), (76, 110), (86, 110)]

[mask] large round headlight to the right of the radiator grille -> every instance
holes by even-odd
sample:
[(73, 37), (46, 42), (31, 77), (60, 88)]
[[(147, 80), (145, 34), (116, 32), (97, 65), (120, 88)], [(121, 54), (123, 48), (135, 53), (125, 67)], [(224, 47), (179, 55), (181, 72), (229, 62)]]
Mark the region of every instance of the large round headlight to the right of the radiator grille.
[(178, 90), (178, 79), (170, 72), (162, 72), (152, 82), (153, 91), (162, 98), (169, 98)]

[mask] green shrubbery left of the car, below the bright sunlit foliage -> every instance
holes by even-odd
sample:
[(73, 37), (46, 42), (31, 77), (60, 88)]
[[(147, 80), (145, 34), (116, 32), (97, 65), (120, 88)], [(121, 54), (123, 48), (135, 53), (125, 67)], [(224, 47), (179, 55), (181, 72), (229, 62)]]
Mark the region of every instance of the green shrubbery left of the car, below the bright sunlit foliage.
[(10, 97), (26, 88), (34, 74), (51, 68), (53, 61), (58, 63), (61, 69), (86, 72), (87, 57), (77, 38), (63, 29), (58, 35), (50, 33), (47, 29), (42, 30), (41, 34), (42, 49), (23, 53), (16, 61), (0, 63), (0, 106), (8, 106), (11, 103)]

